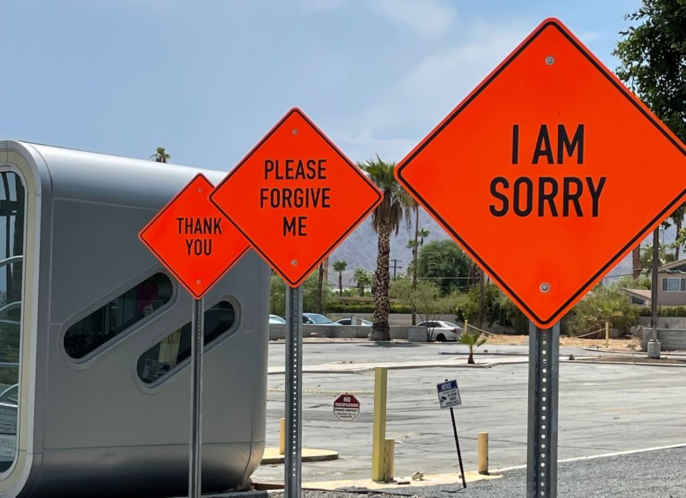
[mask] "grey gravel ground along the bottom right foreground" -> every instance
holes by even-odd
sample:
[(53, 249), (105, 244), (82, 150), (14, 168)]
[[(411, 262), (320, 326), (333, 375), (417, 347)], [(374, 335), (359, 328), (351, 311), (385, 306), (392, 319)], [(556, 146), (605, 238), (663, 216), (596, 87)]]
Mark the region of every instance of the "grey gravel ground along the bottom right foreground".
[[(686, 498), (686, 449), (669, 449), (558, 464), (558, 497)], [(412, 490), (400, 487), (374, 498), (397, 495), (427, 498), (523, 498), (525, 470), (509, 471), (501, 479), (461, 485), (427, 486)], [(305, 491), (303, 498), (359, 498), (360, 493)], [(283, 493), (270, 494), (282, 498)]]

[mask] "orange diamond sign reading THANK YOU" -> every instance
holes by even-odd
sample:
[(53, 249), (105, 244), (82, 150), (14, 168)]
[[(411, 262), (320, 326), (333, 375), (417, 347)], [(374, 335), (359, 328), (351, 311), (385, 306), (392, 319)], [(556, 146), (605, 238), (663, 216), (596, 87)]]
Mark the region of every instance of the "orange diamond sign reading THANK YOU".
[(248, 250), (248, 241), (210, 202), (212, 190), (212, 183), (198, 174), (139, 234), (196, 299)]

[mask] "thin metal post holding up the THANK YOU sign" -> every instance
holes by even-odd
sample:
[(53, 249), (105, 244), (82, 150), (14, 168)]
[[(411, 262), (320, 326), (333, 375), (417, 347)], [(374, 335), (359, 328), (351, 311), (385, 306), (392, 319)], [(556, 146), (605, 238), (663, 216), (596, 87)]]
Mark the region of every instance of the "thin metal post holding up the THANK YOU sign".
[(202, 470), (202, 349), (204, 300), (193, 299), (191, 338), (191, 444), (188, 466), (188, 496), (200, 498)]

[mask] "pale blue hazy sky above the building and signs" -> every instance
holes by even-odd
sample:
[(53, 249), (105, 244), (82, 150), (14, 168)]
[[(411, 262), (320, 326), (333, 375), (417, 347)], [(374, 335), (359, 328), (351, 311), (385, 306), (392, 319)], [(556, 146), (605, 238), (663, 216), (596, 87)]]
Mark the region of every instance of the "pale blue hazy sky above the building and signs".
[(614, 69), (639, 0), (0, 0), (0, 138), (228, 171), (302, 108), (399, 161), (556, 16)]

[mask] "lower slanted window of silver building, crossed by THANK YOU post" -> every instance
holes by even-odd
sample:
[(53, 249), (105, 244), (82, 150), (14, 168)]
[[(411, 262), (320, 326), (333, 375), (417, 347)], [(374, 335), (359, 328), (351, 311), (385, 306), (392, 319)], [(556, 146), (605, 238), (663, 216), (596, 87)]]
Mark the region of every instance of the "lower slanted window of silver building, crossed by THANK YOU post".
[[(228, 301), (221, 301), (205, 310), (204, 345), (233, 329), (236, 310)], [(138, 359), (138, 376), (145, 383), (154, 382), (173, 371), (191, 356), (191, 324), (187, 323), (152, 346)]]

